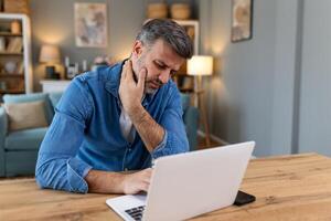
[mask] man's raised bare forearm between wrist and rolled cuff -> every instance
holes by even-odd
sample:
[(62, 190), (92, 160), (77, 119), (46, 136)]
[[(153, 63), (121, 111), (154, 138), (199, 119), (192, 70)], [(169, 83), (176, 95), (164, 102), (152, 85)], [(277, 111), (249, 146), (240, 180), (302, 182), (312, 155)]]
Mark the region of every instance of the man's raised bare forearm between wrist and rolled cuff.
[(151, 152), (163, 139), (164, 129), (141, 106), (137, 106), (129, 116), (139, 133), (146, 148)]

